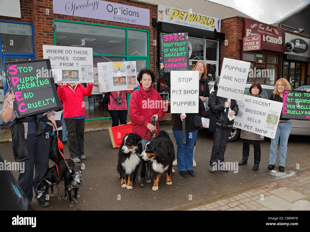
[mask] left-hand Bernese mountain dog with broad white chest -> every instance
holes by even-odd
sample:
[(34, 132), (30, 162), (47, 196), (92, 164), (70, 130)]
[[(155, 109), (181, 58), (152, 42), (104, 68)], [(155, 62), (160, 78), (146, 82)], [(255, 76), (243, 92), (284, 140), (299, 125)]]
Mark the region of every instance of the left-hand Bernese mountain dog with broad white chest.
[(140, 154), (141, 137), (135, 133), (126, 134), (118, 150), (117, 172), (120, 174), (122, 188), (132, 189), (139, 164), (142, 162)]

